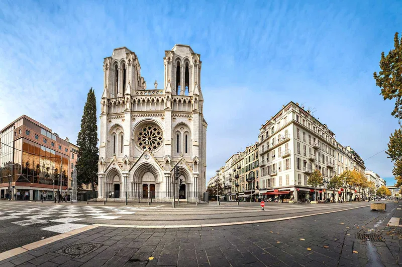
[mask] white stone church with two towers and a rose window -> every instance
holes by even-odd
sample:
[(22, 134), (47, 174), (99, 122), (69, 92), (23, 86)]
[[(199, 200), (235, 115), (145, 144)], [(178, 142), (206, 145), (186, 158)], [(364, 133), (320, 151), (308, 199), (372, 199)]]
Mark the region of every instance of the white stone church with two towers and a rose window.
[[(98, 197), (202, 198), (207, 122), (200, 55), (175, 45), (163, 58), (163, 88), (147, 89), (137, 55), (117, 48), (104, 61)], [(177, 165), (181, 185), (174, 186)]]

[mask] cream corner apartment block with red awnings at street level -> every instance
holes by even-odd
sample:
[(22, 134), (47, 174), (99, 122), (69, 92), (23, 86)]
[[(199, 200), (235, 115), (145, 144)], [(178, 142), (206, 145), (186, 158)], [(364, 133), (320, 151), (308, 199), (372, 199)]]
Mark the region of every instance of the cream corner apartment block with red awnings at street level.
[[(349, 146), (342, 146), (335, 134), (309, 110), (289, 102), (261, 126), (258, 135), (260, 197), (277, 197), (283, 202), (344, 197), (343, 189), (326, 188), (329, 180), (346, 168), (364, 171), (364, 161)], [(307, 181), (319, 170), (324, 186), (316, 196)], [(352, 190), (350, 192), (353, 192)], [(350, 193), (353, 197), (355, 192)]]

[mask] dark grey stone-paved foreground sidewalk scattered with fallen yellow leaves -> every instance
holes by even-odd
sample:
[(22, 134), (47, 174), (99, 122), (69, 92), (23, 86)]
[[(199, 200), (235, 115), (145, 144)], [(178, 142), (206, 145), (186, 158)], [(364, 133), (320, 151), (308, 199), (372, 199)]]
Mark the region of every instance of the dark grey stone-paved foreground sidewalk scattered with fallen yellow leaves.
[[(387, 226), (391, 217), (402, 217), (396, 207), (201, 228), (99, 226), (0, 261), (0, 267), (398, 266), (402, 227)], [(380, 234), (384, 241), (358, 239), (356, 233)], [(79, 243), (98, 245), (82, 258), (66, 256), (63, 249), (74, 252)], [(60, 249), (63, 255), (55, 252)]]

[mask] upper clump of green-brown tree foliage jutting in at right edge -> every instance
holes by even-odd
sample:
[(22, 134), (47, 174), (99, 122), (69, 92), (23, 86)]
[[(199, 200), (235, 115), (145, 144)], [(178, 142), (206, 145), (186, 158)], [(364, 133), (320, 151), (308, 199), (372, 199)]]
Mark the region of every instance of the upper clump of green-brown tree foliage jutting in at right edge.
[(391, 113), (392, 116), (399, 119), (402, 118), (402, 38), (399, 39), (398, 33), (395, 33), (393, 38), (394, 48), (388, 52), (381, 53), (380, 59), (380, 69), (381, 71), (377, 74), (374, 72), (373, 76), (375, 79), (375, 84), (381, 88), (381, 95), (384, 100), (395, 99), (395, 107)]

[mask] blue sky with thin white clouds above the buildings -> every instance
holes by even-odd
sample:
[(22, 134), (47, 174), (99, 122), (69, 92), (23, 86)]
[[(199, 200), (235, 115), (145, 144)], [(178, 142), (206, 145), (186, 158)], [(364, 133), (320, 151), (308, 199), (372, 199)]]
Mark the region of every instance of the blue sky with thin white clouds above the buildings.
[[(152, 87), (177, 43), (203, 61), (208, 178), (289, 101), (313, 108), (365, 160), (398, 126), (372, 74), (402, 32), (401, 10), (400, 1), (2, 1), (0, 128), (26, 114), (75, 141), (114, 48), (137, 54)], [(394, 183), (384, 152), (366, 167)]]

